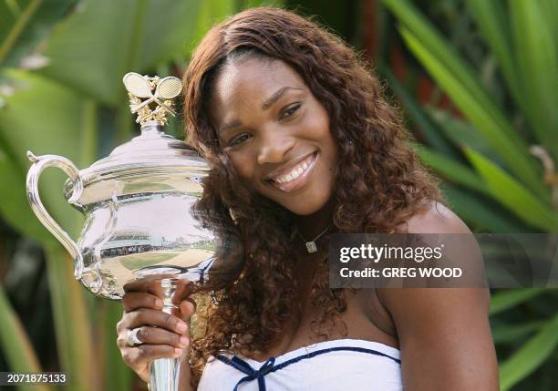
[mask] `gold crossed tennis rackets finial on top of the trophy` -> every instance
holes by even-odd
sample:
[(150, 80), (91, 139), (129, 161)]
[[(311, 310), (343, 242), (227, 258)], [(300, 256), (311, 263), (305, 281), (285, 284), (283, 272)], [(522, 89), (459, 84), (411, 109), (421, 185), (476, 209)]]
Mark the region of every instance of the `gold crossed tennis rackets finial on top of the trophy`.
[[(138, 122), (144, 123), (155, 119), (165, 123), (165, 113), (172, 116), (176, 113), (172, 109), (172, 99), (179, 96), (182, 90), (181, 80), (177, 77), (147, 77), (135, 72), (124, 75), (122, 81), (129, 92), (130, 108), (132, 113), (138, 113)], [(153, 92), (153, 89), (155, 90)], [(145, 100), (141, 100), (145, 99)], [(150, 109), (150, 103), (158, 106)], [(161, 112), (161, 109), (163, 112)]]

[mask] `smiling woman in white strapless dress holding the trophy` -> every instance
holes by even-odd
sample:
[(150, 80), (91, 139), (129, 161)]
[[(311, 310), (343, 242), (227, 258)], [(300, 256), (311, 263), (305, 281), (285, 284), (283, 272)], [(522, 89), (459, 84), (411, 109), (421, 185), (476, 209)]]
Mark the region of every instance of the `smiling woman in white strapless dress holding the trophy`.
[(173, 316), (127, 287), (119, 348), (142, 379), (180, 356), (181, 385), (201, 391), (498, 389), (487, 290), (328, 287), (331, 232), (470, 232), (350, 48), (253, 8), (203, 38), (184, 85), (189, 140), (212, 164), (200, 206), (238, 232), (245, 259), (197, 309), (196, 338), (191, 290)]

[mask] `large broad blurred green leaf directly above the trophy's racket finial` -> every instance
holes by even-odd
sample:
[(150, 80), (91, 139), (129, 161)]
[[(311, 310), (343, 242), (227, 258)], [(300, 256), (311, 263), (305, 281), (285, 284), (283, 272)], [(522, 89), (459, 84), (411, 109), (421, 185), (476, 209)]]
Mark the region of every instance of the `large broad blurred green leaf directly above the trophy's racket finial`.
[(185, 57), (201, 1), (86, 0), (57, 26), (42, 70), (69, 87), (112, 106), (124, 99), (122, 77)]

